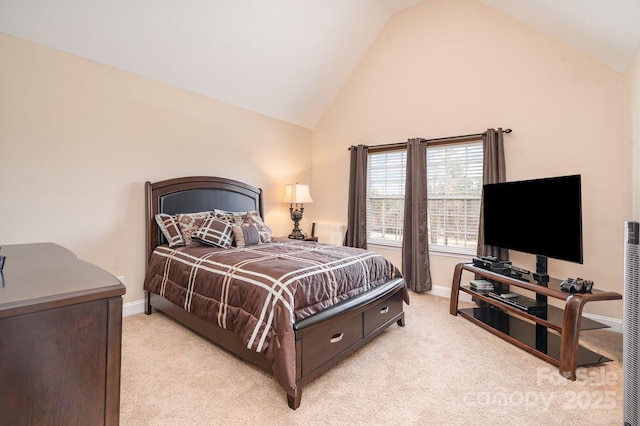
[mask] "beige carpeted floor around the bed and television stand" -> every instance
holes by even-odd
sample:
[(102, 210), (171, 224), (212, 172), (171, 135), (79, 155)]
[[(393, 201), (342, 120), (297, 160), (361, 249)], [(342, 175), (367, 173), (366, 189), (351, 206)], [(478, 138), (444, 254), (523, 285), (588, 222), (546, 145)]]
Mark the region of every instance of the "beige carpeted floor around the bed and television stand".
[(622, 335), (583, 332), (612, 358), (568, 381), (533, 355), (411, 294), (393, 325), (306, 386), (273, 377), (160, 313), (123, 324), (120, 423), (131, 425), (620, 425)]

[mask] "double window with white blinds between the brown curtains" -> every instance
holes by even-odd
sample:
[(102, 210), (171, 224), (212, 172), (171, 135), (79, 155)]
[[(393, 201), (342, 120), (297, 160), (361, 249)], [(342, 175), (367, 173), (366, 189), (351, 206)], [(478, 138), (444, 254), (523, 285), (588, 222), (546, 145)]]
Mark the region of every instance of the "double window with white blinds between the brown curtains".
[[(427, 148), (430, 249), (474, 253), (482, 192), (482, 141)], [(370, 152), (367, 241), (402, 244), (406, 150)]]

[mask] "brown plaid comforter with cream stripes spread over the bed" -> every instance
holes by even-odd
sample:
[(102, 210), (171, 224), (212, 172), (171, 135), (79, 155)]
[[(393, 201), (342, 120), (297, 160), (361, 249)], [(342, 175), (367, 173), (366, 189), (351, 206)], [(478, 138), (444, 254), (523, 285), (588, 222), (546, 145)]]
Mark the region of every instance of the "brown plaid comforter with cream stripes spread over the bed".
[(241, 249), (159, 246), (144, 289), (233, 331), (264, 353), (279, 383), (293, 390), (293, 324), (399, 276), (377, 253), (276, 239)]

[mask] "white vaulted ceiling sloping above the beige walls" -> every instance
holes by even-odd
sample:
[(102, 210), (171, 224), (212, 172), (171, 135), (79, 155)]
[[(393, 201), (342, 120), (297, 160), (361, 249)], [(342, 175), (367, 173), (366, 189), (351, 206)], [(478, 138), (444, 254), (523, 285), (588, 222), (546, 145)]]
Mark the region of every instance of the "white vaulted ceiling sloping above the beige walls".
[[(313, 128), (422, 1), (0, 0), (0, 32)], [(479, 1), (619, 72), (640, 42), (640, 0)]]

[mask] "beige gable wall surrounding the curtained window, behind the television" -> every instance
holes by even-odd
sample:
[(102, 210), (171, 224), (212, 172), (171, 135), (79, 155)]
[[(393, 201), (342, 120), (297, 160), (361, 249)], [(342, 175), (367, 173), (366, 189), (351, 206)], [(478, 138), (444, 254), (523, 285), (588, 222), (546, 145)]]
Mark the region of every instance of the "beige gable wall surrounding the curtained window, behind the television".
[[(314, 130), (314, 217), (346, 220), (351, 144), (510, 127), (509, 180), (582, 174), (584, 265), (550, 260), (550, 273), (622, 292), (623, 87), (621, 74), (477, 1), (426, 1), (387, 23)], [(512, 258), (535, 268), (531, 255)], [(434, 284), (450, 287), (460, 260), (432, 254)], [(621, 318), (622, 303), (586, 311)]]

